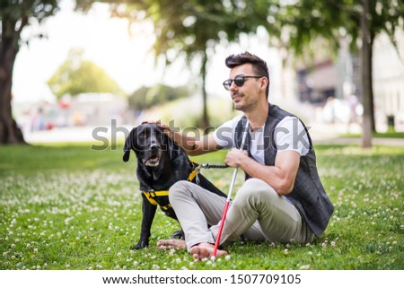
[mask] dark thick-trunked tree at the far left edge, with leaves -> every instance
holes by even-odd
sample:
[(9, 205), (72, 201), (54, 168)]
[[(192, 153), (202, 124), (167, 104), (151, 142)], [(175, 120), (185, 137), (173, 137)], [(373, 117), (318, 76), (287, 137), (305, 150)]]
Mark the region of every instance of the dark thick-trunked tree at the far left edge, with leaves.
[(21, 32), (32, 21), (42, 22), (58, 10), (57, 0), (2, 0), (0, 2), (0, 144), (25, 143), (13, 119), (12, 79)]

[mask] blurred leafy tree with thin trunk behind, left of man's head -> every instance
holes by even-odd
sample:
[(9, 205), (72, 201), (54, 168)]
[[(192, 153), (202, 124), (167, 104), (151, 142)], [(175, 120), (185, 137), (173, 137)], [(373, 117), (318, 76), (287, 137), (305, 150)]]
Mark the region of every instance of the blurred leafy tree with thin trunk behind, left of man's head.
[[(266, 22), (267, 1), (217, 1), (217, 0), (144, 0), (127, 1), (136, 4), (122, 9), (119, 5), (114, 15), (147, 18), (154, 23), (156, 41), (154, 53), (164, 55), (167, 64), (185, 56), (188, 65), (198, 60), (203, 113), (200, 126), (209, 127), (206, 94), (208, 57), (215, 45), (234, 41), (241, 33), (254, 32)], [(145, 11), (145, 14), (138, 13)], [(137, 13), (136, 13), (137, 12)], [(173, 57), (171, 55), (174, 55)], [(194, 61), (193, 61), (194, 60)]]

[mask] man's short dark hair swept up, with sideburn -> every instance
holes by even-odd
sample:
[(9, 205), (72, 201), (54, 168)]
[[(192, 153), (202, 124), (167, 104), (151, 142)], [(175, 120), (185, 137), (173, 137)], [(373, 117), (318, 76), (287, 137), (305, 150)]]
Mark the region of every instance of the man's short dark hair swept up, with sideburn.
[(262, 60), (260, 57), (254, 55), (254, 54), (251, 54), (250, 52), (244, 52), (244, 53), (237, 54), (237, 55), (233, 54), (225, 59), (225, 64), (230, 69), (232, 69), (236, 66), (239, 66), (239, 65), (247, 64), (247, 63), (250, 63), (252, 65), (252, 68), (253, 68), (253, 71), (255, 74), (257, 74), (258, 76), (267, 77), (268, 85), (267, 85), (266, 93), (267, 93), (267, 97), (268, 97), (269, 72), (268, 72), (267, 62)]

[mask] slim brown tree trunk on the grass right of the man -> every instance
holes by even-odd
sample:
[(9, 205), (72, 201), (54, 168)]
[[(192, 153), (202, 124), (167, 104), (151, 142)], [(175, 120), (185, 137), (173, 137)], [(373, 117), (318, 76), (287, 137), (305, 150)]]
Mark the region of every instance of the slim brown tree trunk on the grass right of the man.
[(372, 82), (371, 69), (372, 69), (372, 54), (371, 54), (371, 41), (369, 33), (369, 0), (362, 0), (363, 12), (361, 14), (361, 33), (362, 33), (362, 48), (360, 51), (361, 56), (361, 86), (362, 86), (362, 105), (364, 106), (364, 116), (362, 119), (362, 147), (372, 147)]

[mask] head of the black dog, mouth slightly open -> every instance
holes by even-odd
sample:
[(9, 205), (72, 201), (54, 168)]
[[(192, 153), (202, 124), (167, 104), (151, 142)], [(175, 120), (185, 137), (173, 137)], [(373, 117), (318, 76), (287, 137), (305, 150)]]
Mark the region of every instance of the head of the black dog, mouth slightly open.
[(163, 158), (173, 160), (180, 146), (154, 124), (142, 124), (130, 131), (124, 145), (123, 161), (128, 161), (130, 150), (136, 153), (137, 160), (146, 167), (158, 167)]

